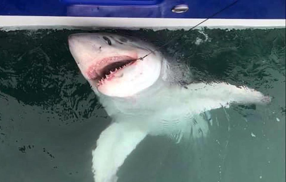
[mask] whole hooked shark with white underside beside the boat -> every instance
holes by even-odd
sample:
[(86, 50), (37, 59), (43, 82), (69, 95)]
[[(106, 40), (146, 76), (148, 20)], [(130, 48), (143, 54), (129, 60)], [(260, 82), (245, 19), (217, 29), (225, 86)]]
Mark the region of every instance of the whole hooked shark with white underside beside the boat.
[(180, 84), (174, 81), (170, 61), (151, 43), (132, 36), (78, 33), (69, 35), (68, 43), (81, 74), (112, 119), (92, 150), (95, 182), (116, 182), (119, 167), (147, 135), (167, 135), (177, 142), (190, 134), (199, 137), (208, 130), (202, 113), (271, 100), (245, 85)]

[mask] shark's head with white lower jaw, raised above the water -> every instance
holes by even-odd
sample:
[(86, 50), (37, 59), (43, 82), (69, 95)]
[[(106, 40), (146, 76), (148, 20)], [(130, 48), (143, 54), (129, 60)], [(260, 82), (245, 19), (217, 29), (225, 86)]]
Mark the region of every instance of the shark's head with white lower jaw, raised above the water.
[(131, 97), (160, 76), (160, 52), (145, 41), (110, 33), (72, 34), (68, 40), (81, 73), (101, 94)]

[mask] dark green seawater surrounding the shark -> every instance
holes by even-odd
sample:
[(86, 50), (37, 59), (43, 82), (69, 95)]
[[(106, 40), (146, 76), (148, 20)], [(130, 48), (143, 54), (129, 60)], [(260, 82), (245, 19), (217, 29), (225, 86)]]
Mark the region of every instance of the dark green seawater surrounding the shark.
[[(110, 118), (69, 53), (81, 30), (0, 31), (0, 181), (92, 182), (91, 151)], [(101, 30), (102, 32), (102, 30)], [(162, 46), (194, 80), (270, 95), (269, 105), (212, 110), (208, 136), (148, 136), (118, 182), (285, 181), (285, 29), (106, 30)], [(170, 103), (171, 104), (171, 103)]]

